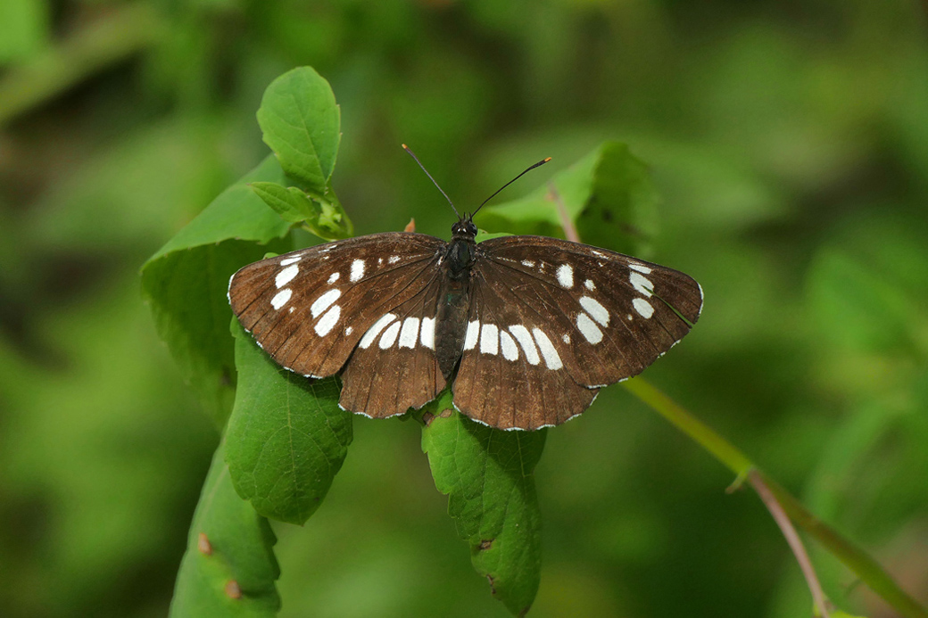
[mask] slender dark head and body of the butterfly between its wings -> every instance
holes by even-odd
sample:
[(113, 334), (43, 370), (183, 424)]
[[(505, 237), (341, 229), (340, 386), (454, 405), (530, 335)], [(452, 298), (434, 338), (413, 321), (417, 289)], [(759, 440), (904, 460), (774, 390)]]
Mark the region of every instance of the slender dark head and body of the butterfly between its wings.
[(477, 227), (469, 220), (451, 227), (451, 242), (442, 260), (442, 291), (435, 320), (435, 356), (447, 380), (464, 349), (470, 308), (470, 268), (477, 252)]

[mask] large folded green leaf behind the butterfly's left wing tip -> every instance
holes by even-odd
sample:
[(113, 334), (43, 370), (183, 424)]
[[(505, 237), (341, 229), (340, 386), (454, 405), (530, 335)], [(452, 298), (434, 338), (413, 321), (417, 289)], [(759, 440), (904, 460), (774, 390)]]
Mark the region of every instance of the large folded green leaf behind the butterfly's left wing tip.
[(267, 208), (247, 184), (283, 177), (277, 161), (268, 157), (142, 267), (142, 293), (158, 334), (220, 427), (232, 409), (236, 380), (228, 335), (229, 277), (242, 265), (260, 260), (268, 249), (288, 248), (277, 238), (288, 233), (290, 224)]

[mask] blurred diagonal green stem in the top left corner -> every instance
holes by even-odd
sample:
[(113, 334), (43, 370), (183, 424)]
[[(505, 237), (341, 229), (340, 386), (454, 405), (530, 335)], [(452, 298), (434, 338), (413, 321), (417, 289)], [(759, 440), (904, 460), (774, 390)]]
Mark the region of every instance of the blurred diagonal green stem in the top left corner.
[(161, 19), (150, 3), (113, 8), (60, 44), (6, 72), (0, 80), (0, 126), (151, 45), (161, 32)]

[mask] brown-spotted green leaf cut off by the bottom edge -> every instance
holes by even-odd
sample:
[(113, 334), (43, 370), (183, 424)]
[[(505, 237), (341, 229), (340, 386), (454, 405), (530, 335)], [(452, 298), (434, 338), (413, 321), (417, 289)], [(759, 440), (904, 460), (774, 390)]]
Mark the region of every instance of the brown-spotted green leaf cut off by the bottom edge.
[(172, 618), (276, 616), (276, 542), (267, 520), (236, 494), (220, 444), (187, 534)]

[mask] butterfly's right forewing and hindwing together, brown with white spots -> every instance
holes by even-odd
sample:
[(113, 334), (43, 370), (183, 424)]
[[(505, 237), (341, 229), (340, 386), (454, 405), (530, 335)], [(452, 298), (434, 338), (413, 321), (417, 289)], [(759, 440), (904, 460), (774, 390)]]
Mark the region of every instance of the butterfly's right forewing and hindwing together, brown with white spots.
[(487, 240), (473, 271), (479, 293), (455, 404), (503, 429), (580, 414), (596, 388), (669, 350), (702, 308), (683, 273), (554, 238)]

